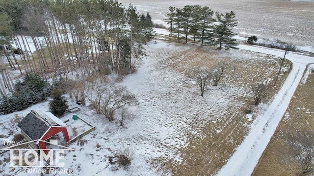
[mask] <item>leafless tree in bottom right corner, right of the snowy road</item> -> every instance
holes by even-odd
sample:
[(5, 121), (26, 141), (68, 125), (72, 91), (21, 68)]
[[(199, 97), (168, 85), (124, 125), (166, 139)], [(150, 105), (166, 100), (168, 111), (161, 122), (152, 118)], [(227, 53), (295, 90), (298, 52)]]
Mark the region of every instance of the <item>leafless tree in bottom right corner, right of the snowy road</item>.
[(314, 132), (302, 130), (289, 133), (287, 143), (293, 153), (291, 159), (300, 164), (298, 176), (312, 176), (314, 174)]

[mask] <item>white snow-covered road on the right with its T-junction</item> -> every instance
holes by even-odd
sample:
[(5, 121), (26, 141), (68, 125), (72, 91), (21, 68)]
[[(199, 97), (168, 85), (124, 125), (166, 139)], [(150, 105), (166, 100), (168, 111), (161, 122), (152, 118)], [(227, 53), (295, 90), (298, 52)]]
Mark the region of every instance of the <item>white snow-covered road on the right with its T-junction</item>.
[[(283, 57), (285, 54), (285, 51), (282, 50), (243, 44), (240, 44), (238, 48), (279, 57)], [(219, 171), (217, 176), (251, 176), (271, 136), (274, 134), (280, 120), (286, 112), (306, 66), (309, 63), (314, 63), (313, 57), (294, 53), (286, 55), (286, 59), (293, 63), (292, 70), (286, 82), (270, 104), (268, 110), (266, 110), (263, 115), (256, 118), (248, 136), (236, 149), (236, 152)]]

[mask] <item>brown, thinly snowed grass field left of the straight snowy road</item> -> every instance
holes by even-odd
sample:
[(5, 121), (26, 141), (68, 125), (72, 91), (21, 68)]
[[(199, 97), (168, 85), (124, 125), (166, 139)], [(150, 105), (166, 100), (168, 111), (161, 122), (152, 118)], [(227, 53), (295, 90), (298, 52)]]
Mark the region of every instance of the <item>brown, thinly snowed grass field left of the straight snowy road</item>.
[[(216, 174), (250, 129), (252, 119), (244, 110), (252, 109), (253, 119), (263, 112), (265, 106), (254, 107), (251, 104), (251, 87), (265, 80), (273, 85), (272, 80), (281, 62), (278, 58), (243, 50), (217, 51), (209, 47), (193, 47), (159, 65), (186, 77), (197, 66), (210, 68), (222, 60), (230, 63), (228, 76), (218, 85), (219, 89), (209, 90), (199, 102), (199, 107), (203, 108), (195, 112), (193, 123), (188, 124), (193, 131), (186, 131), (187, 145), (179, 149), (181, 161), (159, 157), (153, 162), (159, 171), (170, 171), (175, 176)], [(290, 67), (291, 63), (286, 62), (278, 86), (272, 89), (265, 103), (279, 90)], [(187, 78), (186, 82), (191, 83), (191, 80)], [(196, 84), (189, 84), (189, 87), (199, 95)]]

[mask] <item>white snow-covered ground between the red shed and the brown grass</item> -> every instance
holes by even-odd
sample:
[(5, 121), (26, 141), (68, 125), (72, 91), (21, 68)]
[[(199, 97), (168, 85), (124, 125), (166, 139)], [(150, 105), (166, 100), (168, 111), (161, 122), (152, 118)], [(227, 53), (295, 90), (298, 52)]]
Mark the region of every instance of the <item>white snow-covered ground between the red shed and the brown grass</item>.
[[(103, 116), (95, 114), (88, 107), (82, 107), (77, 112), (79, 117), (90, 121), (96, 126), (96, 130), (84, 136), (84, 145), (74, 142), (69, 147), (76, 149), (68, 152), (65, 156), (65, 167), (74, 169), (73, 175), (159, 175), (150, 163), (154, 158), (171, 158), (180, 160), (178, 148), (186, 144), (186, 131), (193, 132), (189, 125), (195, 121), (195, 113), (207, 111), (199, 106), (202, 97), (195, 94), (193, 89), (186, 88), (183, 77), (173, 71), (159, 69), (158, 63), (169, 56), (189, 49), (190, 45), (168, 44), (165, 42), (152, 42), (146, 46), (150, 56), (143, 59), (137, 73), (128, 75), (119, 83), (125, 85), (135, 94), (139, 101), (138, 106), (129, 108), (128, 115), (124, 120), (124, 127), (119, 124), (119, 112), (114, 122), (107, 121)], [(69, 99), (70, 108), (76, 105), (73, 99)], [(205, 102), (212, 110), (216, 110), (210, 102)], [(9, 124), (16, 115), (26, 116), (29, 110), (40, 108), (48, 111), (48, 102), (40, 103), (26, 110), (12, 114), (0, 115), (0, 121), (4, 126)], [(15, 115), (16, 114), (16, 115)], [(69, 118), (71, 114), (65, 117)], [(210, 119), (209, 119), (210, 120)], [(196, 122), (195, 122), (196, 123)], [(81, 132), (80, 125), (76, 131)], [(68, 129), (70, 136), (73, 130)], [(0, 129), (0, 141), (12, 140), (13, 135), (19, 133), (19, 129)], [(63, 137), (60, 137), (63, 140)], [(100, 147), (97, 148), (97, 144)], [(121, 146), (130, 147), (134, 150), (134, 157), (126, 169), (118, 167), (118, 164), (109, 164), (108, 157), (118, 153)], [(9, 153), (1, 154), (1, 160), (6, 160)], [(86, 163), (88, 161), (88, 163)], [(23, 170), (11, 171), (9, 163), (1, 164), (1, 174), (26, 175)]]

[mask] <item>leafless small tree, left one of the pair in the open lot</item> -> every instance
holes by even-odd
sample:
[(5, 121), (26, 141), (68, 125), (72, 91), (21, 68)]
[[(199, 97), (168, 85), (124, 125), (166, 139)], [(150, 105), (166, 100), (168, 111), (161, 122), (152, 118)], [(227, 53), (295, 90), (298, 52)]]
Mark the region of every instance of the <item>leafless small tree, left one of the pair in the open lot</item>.
[(212, 73), (205, 68), (196, 68), (193, 70), (188, 77), (197, 82), (201, 88), (201, 96), (204, 96), (204, 92), (208, 90), (207, 85), (212, 78)]

